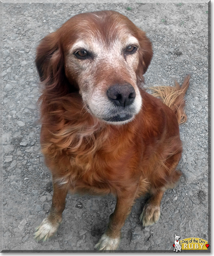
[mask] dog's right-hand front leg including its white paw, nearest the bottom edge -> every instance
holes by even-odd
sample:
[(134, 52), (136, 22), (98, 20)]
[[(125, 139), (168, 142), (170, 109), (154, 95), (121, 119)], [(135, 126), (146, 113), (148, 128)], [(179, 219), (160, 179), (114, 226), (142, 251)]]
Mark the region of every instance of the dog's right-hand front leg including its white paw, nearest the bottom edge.
[(127, 190), (117, 196), (117, 204), (110, 215), (106, 232), (95, 245), (97, 250), (116, 250), (120, 244), (121, 228), (134, 204), (137, 188)]

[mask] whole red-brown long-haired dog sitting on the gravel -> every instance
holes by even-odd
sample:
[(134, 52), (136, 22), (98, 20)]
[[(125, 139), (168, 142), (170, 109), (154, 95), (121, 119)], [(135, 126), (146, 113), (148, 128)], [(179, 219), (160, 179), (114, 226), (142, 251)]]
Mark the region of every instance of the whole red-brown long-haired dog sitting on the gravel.
[(152, 55), (145, 32), (114, 11), (78, 14), (41, 40), (40, 143), (53, 198), (37, 240), (56, 233), (68, 191), (116, 196), (99, 250), (118, 248), (136, 198), (150, 193), (140, 216), (144, 226), (159, 219), (163, 194), (181, 175), (178, 125), (186, 118), (189, 77), (181, 87), (156, 88), (154, 95), (166, 92), (169, 108), (141, 88)]

